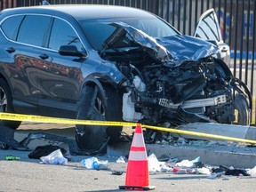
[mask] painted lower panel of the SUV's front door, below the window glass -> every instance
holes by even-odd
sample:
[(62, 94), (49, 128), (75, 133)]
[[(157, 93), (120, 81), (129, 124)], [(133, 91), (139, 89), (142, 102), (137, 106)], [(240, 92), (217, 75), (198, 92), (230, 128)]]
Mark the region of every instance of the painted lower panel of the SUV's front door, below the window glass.
[(47, 55), (49, 58), (42, 60), (36, 68), (40, 113), (49, 115), (50, 109), (56, 116), (58, 111), (61, 113), (60, 109), (75, 111), (82, 82), (81, 60), (60, 56), (59, 52), (49, 51)]

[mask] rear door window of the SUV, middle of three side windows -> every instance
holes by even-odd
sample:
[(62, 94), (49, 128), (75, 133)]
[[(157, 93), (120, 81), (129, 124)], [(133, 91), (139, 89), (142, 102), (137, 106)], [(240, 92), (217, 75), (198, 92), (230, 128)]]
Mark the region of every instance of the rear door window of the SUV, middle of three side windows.
[(51, 18), (41, 15), (28, 15), (22, 21), (17, 41), (24, 44), (42, 46), (44, 33)]

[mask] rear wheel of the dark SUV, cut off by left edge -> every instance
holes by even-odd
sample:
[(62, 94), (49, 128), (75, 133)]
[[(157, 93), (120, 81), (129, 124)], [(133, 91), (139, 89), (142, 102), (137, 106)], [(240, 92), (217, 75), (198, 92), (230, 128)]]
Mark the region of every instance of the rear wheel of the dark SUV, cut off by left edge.
[[(0, 112), (13, 113), (12, 93), (4, 79), (0, 78)], [(17, 129), (20, 126), (19, 121), (1, 120), (0, 124)]]

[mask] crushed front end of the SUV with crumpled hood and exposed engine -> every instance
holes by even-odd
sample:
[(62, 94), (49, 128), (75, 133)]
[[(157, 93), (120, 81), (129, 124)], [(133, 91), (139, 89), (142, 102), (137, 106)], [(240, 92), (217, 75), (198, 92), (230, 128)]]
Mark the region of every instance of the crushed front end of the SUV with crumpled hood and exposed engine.
[[(101, 58), (126, 76), (125, 121), (172, 125), (235, 121), (234, 77), (218, 47), (191, 36), (155, 39), (124, 23), (105, 41)], [(250, 102), (248, 102), (250, 105)]]

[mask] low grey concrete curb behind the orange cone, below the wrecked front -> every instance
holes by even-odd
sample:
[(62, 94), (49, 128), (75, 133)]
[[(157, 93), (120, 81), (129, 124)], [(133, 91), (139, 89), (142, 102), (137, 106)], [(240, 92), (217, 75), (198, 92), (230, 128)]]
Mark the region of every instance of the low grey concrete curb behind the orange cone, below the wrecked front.
[[(130, 143), (119, 143), (116, 146), (108, 147), (108, 156), (127, 156), (130, 145)], [(200, 156), (201, 161), (210, 166), (226, 165), (244, 169), (256, 166), (256, 148), (184, 147), (148, 144), (146, 149), (148, 155), (155, 154), (158, 160), (174, 157), (180, 160), (193, 160)]]

